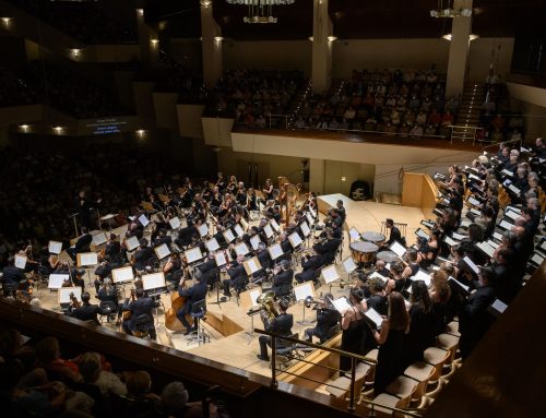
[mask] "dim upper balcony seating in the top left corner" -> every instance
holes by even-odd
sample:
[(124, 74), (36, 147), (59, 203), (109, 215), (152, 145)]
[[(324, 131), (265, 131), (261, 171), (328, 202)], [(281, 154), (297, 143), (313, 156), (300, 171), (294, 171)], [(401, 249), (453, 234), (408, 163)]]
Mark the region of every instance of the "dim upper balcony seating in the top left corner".
[(136, 21), (111, 20), (92, 1), (9, 0), (85, 44), (136, 43)]

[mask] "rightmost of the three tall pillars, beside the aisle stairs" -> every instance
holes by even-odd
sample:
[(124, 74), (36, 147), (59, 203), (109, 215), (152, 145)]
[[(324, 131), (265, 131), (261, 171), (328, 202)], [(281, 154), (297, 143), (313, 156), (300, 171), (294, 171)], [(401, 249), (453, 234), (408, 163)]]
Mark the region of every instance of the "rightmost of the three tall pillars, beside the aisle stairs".
[[(454, 0), (453, 9), (472, 9), (472, 0)], [(472, 29), (472, 16), (460, 16), (452, 20), (446, 97), (463, 94)]]

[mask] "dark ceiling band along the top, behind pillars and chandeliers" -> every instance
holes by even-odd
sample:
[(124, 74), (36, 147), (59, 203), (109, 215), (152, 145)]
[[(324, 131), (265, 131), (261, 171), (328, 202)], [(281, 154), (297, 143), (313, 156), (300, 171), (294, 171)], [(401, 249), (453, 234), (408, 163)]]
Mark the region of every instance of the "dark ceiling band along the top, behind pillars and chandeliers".
[[(149, 24), (173, 37), (201, 36), (199, 0), (146, 0)], [(313, 0), (296, 0), (274, 8), (276, 24), (246, 24), (245, 5), (213, 0), (222, 34), (234, 39), (307, 39), (312, 35)], [(430, 17), (438, 0), (330, 0), (334, 35), (354, 38), (439, 37), (451, 31), (451, 20)], [(546, 36), (545, 0), (474, 0), (472, 32), (482, 37)]]

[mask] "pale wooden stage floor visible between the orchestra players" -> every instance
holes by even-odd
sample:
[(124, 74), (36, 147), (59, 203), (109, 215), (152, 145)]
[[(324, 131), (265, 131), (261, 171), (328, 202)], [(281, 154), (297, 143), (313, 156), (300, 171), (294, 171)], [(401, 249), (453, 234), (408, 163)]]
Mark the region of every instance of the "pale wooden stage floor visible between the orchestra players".
[[(400, 205), (390, 205), (384, 203), (376, 202), (355, 202), (342, 194), (330, 194), (319, 198), (319, 210), (321, 212), (325, 211), (328, 207), (335, 205), (335, 202), (342, 199), (346, 207), (347, 213), (347, 226), (348, 228), (355, 227), (358, 231), (380, 231), (381, 222), (388, 217), (394, 219), (394, 222), (406, 223), (407, 224), (407, 243), (411, 244), (415, 241), (414, 230), (419, 227), (419, 222), (423, 219), (423, 213), (419, 208), (415, 207), (404, 207)], [(323, 215), (321, 215), (321, 218)], [(116, 234), (123, 235), (127, 230), (127, 226), (115, 229)], [(351, 254), (348, 249), (348, 234), (344, 231), (344, 249), (342, 259), (347, 258)], [(312, 242), (311, 242), (312, 244)], [(66, 253), (61, 254), (61, 259), (68, 259)], [(339, 265), (339, 272), (343, 279), (347, 280), (347, 275), (344, 273), (343, 266), (340, 263), (340, 259), (336, 259)], [(90, 275), (86, 275), (86, 290), (92, 295), (92, 302), (98, 303), (98, 299), (95, 299), (95, 288), (92, 285), (94, 278), (94, 270), (90, 268)], [(298, 265), (296, 271), (301, 270)], [(90, 279), (91, 277), (91, 279)], [(222, 277), (224, 278), (224, 277)], [(347, 296), (348, 287), (341, 289), (337, 284), (332, 287), (329, 285), (321, 285), (316, 289), (316, 295), (320, 296), (331, 291), (334, 297)], [(129, 296), (129, 286), (124, 289), (126, 296)], [(222, 290), (219, 291), (222, 296)], [(48, 290), (46, 287), (35, 289), (35, 295), (40, 299), (43, 308), (50, 309), (52, 311), (60, 312), (60, 308), (57, 302), (57, 294)], [(209, 325), (206, 321), (203, 327), (211, 337), (211, 342), (199, 346), (197, 343), (188, 344), (188, 337), (183, 336), (182, 333), (175, 333), (165, 329), (164, 312), (170, 308), (170, 296), (162, 295), (163, 307), (158, 308), (156, 314), (156, 329), (158, 343), (174, 347), (181, 351), (191, 353), (194, 356), (202, 358), (215, 360), (235, 368), (251, 371), (254, 373), (271, 375), (270, 365), (265, 361), (260, 361), (257, 358), (259, 353), (258, 335), (249, 335), (251, 332), (251, 319), (247, 314), (246, 310), (240, 307), (235, 298), (230, 298), (225, 302), (219, 304), (215, 303), (217, 300), (216, 290), (209, 292), (207, 295), (207, 312), (209, 315), (214, 315), (215, 319), (222, 320), (222, 318), (227, 318), (232, 323), (239, 325), (242, 331), (236, 332), (229, 336), (222, 335), (214, 327)], [(313, 324), (310, 320), (316, 319), (316, 312), (310, 309), (305, 309), (305, 320), (307, 323), (301, 323), (304, 320), (304, 307), (302, 303), (296, 303), (288, 309), (288, 312), (294, 314), (294, 327), (293, 332), (298, 332), (300, 338), (304, 336), (304, 330), (307, 327), (312, 327)], [(211, 319), (212, 321), (212, 319)], [(254, 317), (254, 327), (262, 329), (262, 322), (260, 315)], [(105, 322), (103, 326), (108, 326), (110, 329), (118, 329), (114, 323)]]

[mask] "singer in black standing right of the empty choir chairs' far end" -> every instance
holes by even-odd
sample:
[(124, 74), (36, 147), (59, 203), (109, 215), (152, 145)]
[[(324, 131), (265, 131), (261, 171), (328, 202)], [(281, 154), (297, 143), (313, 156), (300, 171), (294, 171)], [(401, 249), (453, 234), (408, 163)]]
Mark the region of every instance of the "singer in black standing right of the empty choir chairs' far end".
[(479, 287), (468, 296), (459, 312), (459, 348), (463, 360), (468, 357), (473, 348), (479, 343), (494, 317), (488, 307), (495, 301), (495, 273), (490, 267), (482, 267), (478, 274)]

